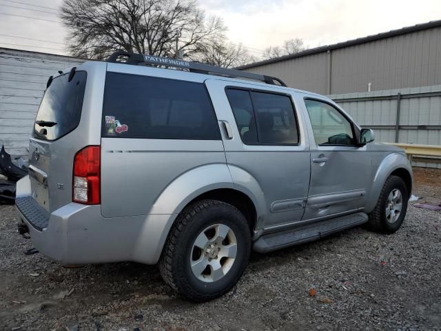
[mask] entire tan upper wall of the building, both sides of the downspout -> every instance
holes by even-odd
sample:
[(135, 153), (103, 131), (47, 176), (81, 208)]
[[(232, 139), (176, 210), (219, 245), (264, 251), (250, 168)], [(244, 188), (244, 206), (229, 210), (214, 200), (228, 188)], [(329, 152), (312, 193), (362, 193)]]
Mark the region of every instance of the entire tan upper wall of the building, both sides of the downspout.
[(441, 27), (244, 70), (279, 77), (292, 88), (320, 94), (365, 92), (368, 83), (371, 90), (438, 85)]

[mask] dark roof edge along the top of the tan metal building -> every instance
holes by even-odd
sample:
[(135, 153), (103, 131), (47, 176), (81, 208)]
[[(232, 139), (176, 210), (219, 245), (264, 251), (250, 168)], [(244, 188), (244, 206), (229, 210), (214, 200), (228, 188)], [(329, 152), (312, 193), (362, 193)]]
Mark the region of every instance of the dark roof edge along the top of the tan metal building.
[(296, 59), (298, 57), (305, 57), (307, 55), (327, 52), (329, 50), (336, 50), (339, 48), (345, 48), (345, 47), (349, 47), (349, 46), (358, 45), (360, 43), (367, 43), (370, 41), (376, 41), (376, 40), (380, 40), (380, 39), (386, 39), (389, 37), (395, 37), (395, 36), (399, 36), (400, 34), (407, 34), (410, 32), (417, 32), (420, 30), (427, 30), (430, 28), (438, 28), (440, 26), (441, 26), (441, 20), (429, 21), (427, 23), (416, 24), (415, 26), (408, 26), (405, 28), (397, 29), (397, 30), (391, 30), (388, 32), (381, 32), (378, 34), (372, 34), (367, 37), (361, 37), (361, 38), (357, 38), (357, 39), (351, 39), (348, 41), (342, 41), (340, 43), (334, 43), (332, 45), (310, 48), (309, 50), (302, 50), (302, 52), (284, 55), (283, 57), (275, 57), (273, 59), (257, 61), (254, 63), (245, 64), (244, 66), (238, 66), (235, 69), (243, 70), (243, 69), (254, 68), (254, 67), (258, 67), (258, 66), (265, 66), (266, 64), (270, 64), (270, 63), (276, 63), (276, 62), (280, 62), (280, 61)]

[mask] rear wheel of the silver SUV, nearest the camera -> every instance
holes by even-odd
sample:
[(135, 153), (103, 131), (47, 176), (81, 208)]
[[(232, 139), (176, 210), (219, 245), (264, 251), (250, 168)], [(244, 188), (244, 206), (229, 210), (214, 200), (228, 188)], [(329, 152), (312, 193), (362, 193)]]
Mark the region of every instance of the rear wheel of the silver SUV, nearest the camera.
[(159, 268), (164, 281), (184, 297), (207, 301), (237, 283), (250, 251), (251, 234), (243, 214), (227, 203), (203, 200), (179, 215)]

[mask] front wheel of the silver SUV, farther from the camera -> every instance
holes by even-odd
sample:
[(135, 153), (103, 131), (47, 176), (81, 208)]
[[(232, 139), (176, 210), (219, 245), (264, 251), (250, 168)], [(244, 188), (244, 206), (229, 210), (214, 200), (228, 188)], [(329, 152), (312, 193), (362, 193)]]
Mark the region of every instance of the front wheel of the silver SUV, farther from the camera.
[(375, 210), (369, 215), (368, 227), (376, 232), (393, 233), (406, 217), (409, 193), (406, 184), (397, 176), (391, 176), (380, 192)]

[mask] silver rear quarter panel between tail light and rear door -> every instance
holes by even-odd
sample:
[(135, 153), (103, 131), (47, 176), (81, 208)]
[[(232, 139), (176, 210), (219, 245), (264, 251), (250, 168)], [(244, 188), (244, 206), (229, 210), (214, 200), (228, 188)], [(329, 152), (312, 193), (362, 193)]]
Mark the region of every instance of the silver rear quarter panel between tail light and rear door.
[(185, 172), (225, 164), (222, 141), (118, 139), (101, 141), (104, 217), (148, 214), (159, 194)]

